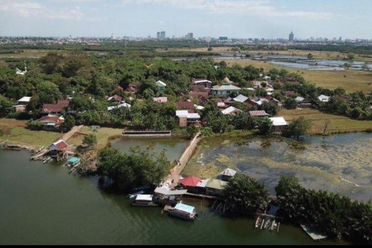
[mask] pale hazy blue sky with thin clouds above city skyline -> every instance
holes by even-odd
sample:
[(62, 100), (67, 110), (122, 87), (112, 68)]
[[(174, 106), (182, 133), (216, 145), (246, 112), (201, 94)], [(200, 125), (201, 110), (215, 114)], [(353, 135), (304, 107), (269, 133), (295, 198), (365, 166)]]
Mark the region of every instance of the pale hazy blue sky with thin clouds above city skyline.
[(372, 39), (371, 0), (0, 0), (0, 36)]

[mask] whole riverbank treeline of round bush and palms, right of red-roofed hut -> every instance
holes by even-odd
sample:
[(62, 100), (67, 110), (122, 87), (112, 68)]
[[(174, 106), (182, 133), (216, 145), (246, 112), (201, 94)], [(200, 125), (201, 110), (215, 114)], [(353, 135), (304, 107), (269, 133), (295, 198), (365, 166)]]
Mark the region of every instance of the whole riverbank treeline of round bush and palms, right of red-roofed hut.
[[(314, 225), (329, 238), (372, 242), (372, 203), (359, 202), (324, 190), (301, 187), (296, 177), (282, 175), (275, 187), (279, 216), (287, 223)], [(269, 191), (255, 178), (237, 175), (225, 187), (227, 209), (238, 213), (262, 213)]]

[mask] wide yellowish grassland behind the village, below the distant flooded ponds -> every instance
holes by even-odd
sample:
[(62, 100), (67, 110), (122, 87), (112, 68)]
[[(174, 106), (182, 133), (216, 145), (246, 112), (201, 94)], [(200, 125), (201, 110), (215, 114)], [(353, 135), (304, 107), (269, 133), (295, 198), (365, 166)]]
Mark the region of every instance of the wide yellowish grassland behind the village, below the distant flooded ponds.
[[(216, 60), (220, 62), (221, 60)], [(372, 72), (371, 71), (322, 71), (322, 70), (304, 70), (297, 68), (283, 67), (280, 65), (272, 65), (269, 62), (249, 60), (249, 59), (227, 59), (225, 62), (228, 65), (239, 64), (241, 66), (253, 65), (255, 67), (263, 68), (268, 71), (272, 68), (278, 70), (285, 69), (292, 73), (301, 74), (305, 80), (314, 83), (316, 86), (329, 88), (334, 90), (337, 87), (344, 88), (347, 92), (354, 92), (362, 90), (369, 94), (372, 91)]]

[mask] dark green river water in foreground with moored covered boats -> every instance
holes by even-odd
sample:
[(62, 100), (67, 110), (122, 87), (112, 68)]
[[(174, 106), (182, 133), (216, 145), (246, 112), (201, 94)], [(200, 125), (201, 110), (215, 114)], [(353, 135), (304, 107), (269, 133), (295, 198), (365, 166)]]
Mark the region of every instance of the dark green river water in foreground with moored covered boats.
[[(163, 141), (154, 141), (162, 148)], [(180, 147), (176, 156), (185, 141), (172, 142)], [(195, 199), (184, 201), (202, 209), (200, 220), (175, 219), (158, 207), (131, 207), (124, 195), (99, 189), (97, 180), (69, 175), (61, 162), (29, 161), (27, 151), (0, 150), (0, 244), (347, 244), (313, 242), (282, 224), (278, 233), (254, 233), (254, 220), (222, 217)]]

